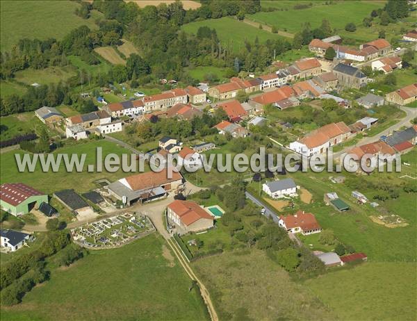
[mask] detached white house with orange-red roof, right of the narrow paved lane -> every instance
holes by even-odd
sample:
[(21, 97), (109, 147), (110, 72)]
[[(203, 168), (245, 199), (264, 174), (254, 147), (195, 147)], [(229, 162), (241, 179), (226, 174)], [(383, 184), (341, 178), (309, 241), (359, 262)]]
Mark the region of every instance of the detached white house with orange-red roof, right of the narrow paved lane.
[(297, 211), (294, 215), (281, 215), (278, 224), (288, 232), (302, 233), (302, 235), (320, 233), (322, 230), (316, 217), (304, 211)]

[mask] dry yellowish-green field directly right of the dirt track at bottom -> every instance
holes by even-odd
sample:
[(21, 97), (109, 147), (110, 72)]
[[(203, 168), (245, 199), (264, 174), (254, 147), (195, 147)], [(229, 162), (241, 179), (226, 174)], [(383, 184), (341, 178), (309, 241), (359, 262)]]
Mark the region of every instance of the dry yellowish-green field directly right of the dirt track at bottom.
[(259, 250), (202, 258), (193, 267), (220, 320), (334, 320), (318, 299)]

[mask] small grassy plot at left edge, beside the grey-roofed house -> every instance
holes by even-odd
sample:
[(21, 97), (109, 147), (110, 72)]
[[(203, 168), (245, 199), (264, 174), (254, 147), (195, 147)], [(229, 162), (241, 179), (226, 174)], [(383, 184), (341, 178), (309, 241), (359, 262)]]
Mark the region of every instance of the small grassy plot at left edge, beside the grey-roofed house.
[(17, 135), (32, 133), (44, 124), (35, 116), (33, 111), (0, 117), (1, 126), (7, 130), (1, 131), (0, 140), (10, 140)]

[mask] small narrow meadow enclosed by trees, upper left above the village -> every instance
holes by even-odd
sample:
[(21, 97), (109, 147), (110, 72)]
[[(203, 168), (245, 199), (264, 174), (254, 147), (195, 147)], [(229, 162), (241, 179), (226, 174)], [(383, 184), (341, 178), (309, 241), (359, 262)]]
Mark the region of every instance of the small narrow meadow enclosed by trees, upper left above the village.
[(74, 69), (67, 67), (47, 67), (45, 69), (28, 68), (15, 73), (15, 79), (26, 85), (39, 83), (40, 85), (49, 85), (50, 83), (65, 82), (70, 77), (75, 76)]

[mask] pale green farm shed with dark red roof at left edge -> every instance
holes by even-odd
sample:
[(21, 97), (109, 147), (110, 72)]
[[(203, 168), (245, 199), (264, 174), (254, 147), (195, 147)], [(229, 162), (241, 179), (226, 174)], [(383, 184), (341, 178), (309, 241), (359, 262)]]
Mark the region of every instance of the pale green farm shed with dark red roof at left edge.
[(48, 195), (23, 183), (5, 183), (0, 186), (0, 205), (3, 211), (18, 216), (48, 203)]

